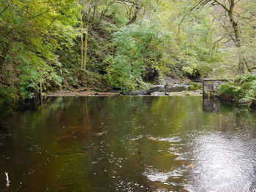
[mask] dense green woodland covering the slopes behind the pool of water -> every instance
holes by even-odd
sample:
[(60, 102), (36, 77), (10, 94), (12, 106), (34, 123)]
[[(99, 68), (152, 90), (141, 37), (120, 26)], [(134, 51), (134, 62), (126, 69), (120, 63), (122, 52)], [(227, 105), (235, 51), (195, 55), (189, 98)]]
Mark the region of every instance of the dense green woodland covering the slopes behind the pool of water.
[(0, 103), (162, 77), (227, 79), (219, 96), (254, 102), (255, 31), (255, 0), (1, 0)]

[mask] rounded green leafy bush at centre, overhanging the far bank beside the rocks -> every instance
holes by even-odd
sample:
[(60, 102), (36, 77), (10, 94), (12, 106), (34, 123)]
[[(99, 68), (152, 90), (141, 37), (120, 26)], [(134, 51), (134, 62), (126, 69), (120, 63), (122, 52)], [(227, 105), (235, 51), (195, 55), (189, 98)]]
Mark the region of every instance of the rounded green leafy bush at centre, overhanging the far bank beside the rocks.
[(109, 64), (106, 77), (110, 85), (122, 91), (134, 91), (143, 87), (143, 79), (159, 74), (161, 53), (157, 46), (162, 41), (161, 32), (147, 21), (113, 34), (111, 46), (116, 51), (105, 60)]

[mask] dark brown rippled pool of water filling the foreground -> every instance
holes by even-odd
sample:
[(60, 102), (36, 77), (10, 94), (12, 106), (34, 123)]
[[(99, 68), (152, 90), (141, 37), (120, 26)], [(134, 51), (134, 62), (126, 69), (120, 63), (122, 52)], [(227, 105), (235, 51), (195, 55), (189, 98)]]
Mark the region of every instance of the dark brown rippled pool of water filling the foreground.
[(240, 192), (255, 182), (256, 114), (246, 107), (200, 96), (49, 98), (1, 115), (0, 191)]

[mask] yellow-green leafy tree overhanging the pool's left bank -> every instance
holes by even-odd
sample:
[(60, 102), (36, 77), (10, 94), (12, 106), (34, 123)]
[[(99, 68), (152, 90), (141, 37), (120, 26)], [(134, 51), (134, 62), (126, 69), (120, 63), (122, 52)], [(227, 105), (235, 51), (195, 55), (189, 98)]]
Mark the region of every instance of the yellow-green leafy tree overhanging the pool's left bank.
[[(18, 90), (22, 99), (60, 87), (57, 50), (72, 47), (77, 37), (78, 9), (71, 0), (18, 1), (0, 19), (0, 77)], [(8, 23), (8, 25), (6, 24)], [(9, 76), (9, 78), (8, 78)], [(10, 78), (11, 77), (11, 78)]]

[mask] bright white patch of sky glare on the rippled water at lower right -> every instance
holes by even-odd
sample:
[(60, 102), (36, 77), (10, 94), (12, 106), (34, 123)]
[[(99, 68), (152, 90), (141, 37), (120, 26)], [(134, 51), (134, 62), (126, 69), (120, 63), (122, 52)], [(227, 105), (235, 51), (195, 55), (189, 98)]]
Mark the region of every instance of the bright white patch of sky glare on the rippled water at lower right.
[(255, 191), (255, 139), (214, 132), (192, 142), (188, 191)]

